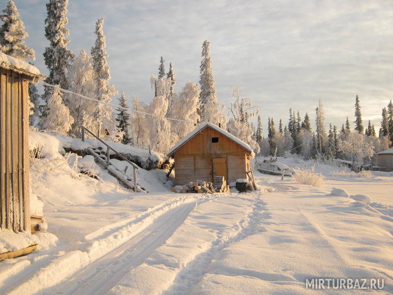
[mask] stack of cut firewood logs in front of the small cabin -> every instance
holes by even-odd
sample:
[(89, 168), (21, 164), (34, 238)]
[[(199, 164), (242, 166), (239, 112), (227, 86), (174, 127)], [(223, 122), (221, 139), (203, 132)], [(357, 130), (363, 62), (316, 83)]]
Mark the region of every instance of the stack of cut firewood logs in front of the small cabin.
[(228, 193), (229, 185), (226, 185), (226, 180), (223, 176), (216, 177), (216, 183), (210, 181), (190, 181), (188, 185), (176, 185), (172, 187), (170, 190), (175, 193), (205, 193), (205, 194), (214, 194), (214, 193)]

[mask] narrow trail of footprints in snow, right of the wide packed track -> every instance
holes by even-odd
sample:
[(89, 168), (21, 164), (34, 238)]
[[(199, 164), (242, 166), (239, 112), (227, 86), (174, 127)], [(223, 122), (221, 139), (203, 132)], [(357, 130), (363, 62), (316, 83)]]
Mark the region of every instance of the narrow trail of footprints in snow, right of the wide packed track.
[(197, 255), (176, 275), (172, 285), (162, 293), (162, 295), (190, 295), (194, 287), (200, 282), (212, 261), (222, 250), (248, 236), (265, 232), (262, 220), (266, 216), (266, 208), (260, 198), (254, 203), (253, 212), (245, 218), (245, 222), (240, 224), (241, 230), (231, 237), (219, 237), (212, 246), (205, 252)]

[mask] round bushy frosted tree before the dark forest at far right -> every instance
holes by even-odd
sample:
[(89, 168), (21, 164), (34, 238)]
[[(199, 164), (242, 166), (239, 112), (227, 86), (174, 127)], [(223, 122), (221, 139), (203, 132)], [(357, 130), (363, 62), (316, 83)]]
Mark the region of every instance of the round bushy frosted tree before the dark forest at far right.
[(363, 133), (349, 132), (345, 140), (338, 139), (338, 150), (352, 159), (352, 167), (363, 164), (363, 159), (374, 154), (374, 145), (366, 140)]

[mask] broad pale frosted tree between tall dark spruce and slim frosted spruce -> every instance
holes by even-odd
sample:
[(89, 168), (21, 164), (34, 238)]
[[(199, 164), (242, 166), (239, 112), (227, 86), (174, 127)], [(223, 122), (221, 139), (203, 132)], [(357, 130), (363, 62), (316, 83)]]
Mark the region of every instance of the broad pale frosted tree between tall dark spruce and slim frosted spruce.
[[(95, 83), (93, 80), (93, 64), (91, 58), (84, 50), (78, 57), (72, 60), (67, 72), (67, 84), (70, 91), (87, 96), (94, 97)], [(74, 123), (70, 133), (80, 136), (81, 128), (84, 126), (89, 130), (94, 130), (95, 121), (93, 114), (96, 110), (96, 103), (83, 99), (75, 94), (67, 94), (64, 97), (64, 104), (70, 110)], [(86, 134), (86, 136), (88, 136)]]

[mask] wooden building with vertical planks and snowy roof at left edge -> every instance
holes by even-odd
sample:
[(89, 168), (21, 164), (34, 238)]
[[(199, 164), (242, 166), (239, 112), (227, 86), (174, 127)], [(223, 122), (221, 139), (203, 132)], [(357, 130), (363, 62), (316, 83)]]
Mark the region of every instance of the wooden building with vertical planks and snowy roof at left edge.
[(30, 232), (28, 83), (37, 83), (40, 73), (3, 53), (0, 71), (0, 226)]

